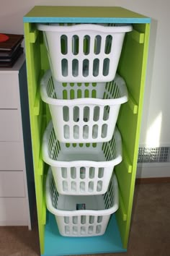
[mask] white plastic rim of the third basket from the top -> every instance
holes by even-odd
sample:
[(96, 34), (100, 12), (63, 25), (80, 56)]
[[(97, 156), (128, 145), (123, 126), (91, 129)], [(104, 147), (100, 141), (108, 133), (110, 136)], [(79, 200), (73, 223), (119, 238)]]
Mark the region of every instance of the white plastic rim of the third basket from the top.
[[(101, 168), (106, 168), (106, 167), (112, 167), (116, 166), (117, 164), (121, 163), (122, 161), (122, 139), (119, 130), (117, 127), (115, 127), (115, 131), (113, 136), (115, 136), (116, 140), (116, 145), (117, 145), (117, 156), (116, 158), (110, 160), (110, 161), (57, 161), (53, 160), (48, 156), (48, 140), (50, 137), (50, 132), (53, 129), (53, 121), (50, 121), (48, 124), (48, 127), (46, 127), (44, 135), (42, 137), (42, 159), (45, 161), (45, 163), (48, 163), (50, 166), (54, 167), (79, 167), (79, 166), (86, 166), (86, 167), (101, 167)], [(56, 138), (57, 140), (57, 138)], [(63, 143), (63, 142), (60, 142)], [(93, 143), (93, 142), (92, 142)], [(99, 142), (102, 143), (102, 142)], [(103, 142), (105, 143), (105, 142)], [(66, 144), (66, 143), (63, 143)], [(69, 143), (73, 144), (73, 143)], [(79, 144), (79, 143), (77, 143)], [(83, 144), (86, 144), (83, 143)], [(91, 143), (90, 143), (91, 144)]]

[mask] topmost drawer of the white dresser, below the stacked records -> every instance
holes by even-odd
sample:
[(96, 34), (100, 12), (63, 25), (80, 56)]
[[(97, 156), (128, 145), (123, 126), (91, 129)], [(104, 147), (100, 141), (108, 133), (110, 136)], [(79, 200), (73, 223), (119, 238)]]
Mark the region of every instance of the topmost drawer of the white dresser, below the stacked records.
[(0, 108), (18, 108), (19, 82), (17, 73), (0, 74)]

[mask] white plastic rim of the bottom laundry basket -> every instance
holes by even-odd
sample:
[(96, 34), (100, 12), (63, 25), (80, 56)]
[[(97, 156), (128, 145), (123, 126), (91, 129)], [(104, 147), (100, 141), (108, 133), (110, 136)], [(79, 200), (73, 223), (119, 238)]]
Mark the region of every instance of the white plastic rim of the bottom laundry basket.
[[(112, 208), (105, 209), (105, 210), (58, 210), (53, 207), (53, 204), (51, 202), (50, 198), (50, 182), (53, 177), (51, 168), (48, 169), (48, 175), (45, 182), (45, 199), (46, 199), (46, 206), (50, 213), (53, 213), (55, 216), (108, 216), (112, 213), (115, 213), (116, 210), (119, 208), (119, 195), (118, 195), (118, 183), (117, 183), (117, 177), (115, 174), (113, 174), (112, 182), (114, 183), (113, 189), (114, 189), (114, 203)], [(58, 195), (61, 195), (58, 193)], [(76, 196), (76, 195), (75, 195)], [(96, 195), (101, 196), (101, 195)]]

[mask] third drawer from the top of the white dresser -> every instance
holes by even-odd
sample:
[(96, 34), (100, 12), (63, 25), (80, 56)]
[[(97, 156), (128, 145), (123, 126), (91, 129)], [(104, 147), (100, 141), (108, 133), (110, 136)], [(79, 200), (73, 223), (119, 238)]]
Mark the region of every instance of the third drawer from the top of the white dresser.
[(0, 142), (0, 170), (24, 169), (24, 149), (21, 142)]

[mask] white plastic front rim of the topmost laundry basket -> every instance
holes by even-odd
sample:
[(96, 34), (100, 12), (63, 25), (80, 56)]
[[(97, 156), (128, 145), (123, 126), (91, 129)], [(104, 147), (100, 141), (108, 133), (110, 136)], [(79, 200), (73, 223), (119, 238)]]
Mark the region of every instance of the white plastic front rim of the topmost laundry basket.
[(71, 26), (63, 26), (58, 25), (58, 23), (55, 23), (55, 25), (47, 25), (43, 23), (37, 23), (37, 29), (44, 32), (58, 32), (58, 33), (72, 33), (76, 31), (83, 31), (83, 30), (89, 30), (90, 31), (96, 31), (96, 32), (102, 32), (102, 33), (127, 33), (133, 30), (132, 25), (117, 25), (114, 27), (111, 26), (104, 26), (99, 24), (76, 24)]

